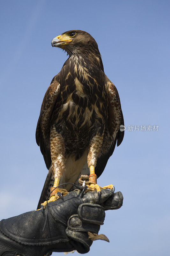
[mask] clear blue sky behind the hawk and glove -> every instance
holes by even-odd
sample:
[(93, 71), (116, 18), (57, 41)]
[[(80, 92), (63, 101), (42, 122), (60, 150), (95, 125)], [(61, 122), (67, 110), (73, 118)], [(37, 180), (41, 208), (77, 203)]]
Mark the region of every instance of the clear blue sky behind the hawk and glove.
[[(169, 255), (170, 2), (15, 0), (1, 1), (0, 12), (0, 219), (36, 209), (47, 175), (36, 124), (67, 59), (51, 40), (81, 29), (98, 43), (127, 127), (98, 180), (113, 183), (124, 203), (106, 212), (100, 229), (110, 243), (94, 242), (88, 255)], [(129, 125), (159, 130), (128, 131)]]

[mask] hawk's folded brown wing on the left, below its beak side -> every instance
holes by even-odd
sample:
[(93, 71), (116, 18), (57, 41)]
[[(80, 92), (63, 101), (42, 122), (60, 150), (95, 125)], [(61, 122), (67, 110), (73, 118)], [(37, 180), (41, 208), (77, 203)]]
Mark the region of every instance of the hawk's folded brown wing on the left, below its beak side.
[(42, 101), (40, 116), (38, 119), (35, 133), (36, 142), (38, 146), (40, 146), (41, 153), (44, 157), (44, 161), (48, 169), (51, 165), (51, 154), (49, 145), (50, 120), (59, 92), (60, 84), (54, 81), (48, 87), (47, 92)]

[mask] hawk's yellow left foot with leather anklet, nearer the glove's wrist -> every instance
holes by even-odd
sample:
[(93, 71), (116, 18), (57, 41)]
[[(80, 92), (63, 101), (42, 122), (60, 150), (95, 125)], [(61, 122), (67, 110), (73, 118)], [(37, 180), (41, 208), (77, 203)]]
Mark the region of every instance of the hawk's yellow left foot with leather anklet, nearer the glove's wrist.
[(68, 194), (67, 190), (64, 189), (64, 188), (50, 188), (50, 191), (51, 191), (51, 194), (50, 194), (50, 198), (48, 201), (45, 201), (44, 203), (41, 204), (41, 210), (42, 209), (45, 209), (47, 203), (50, 203), (50, 202), (54, 202), (58, 199), (63, 199), (63, 196), (66, 196)]

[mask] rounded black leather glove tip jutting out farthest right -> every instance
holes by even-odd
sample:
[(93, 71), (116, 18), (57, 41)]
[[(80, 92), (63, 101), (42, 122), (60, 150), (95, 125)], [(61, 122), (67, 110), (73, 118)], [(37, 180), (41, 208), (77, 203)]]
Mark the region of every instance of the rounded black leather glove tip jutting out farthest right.
[(116, 210), (119, 209), (123, 204), (123, 195), (122, 193), (116, 192), (112, 196), (110, 196), (105, 202), (103, 202), (102, 206), (104, 210)]

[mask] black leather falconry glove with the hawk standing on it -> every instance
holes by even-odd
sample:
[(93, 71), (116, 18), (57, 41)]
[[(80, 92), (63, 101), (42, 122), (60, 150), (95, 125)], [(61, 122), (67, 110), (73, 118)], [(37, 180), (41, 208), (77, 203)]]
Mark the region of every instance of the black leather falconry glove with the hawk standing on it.
[(81, 191), (72, 191), (64, 201), (49, 203), (43, 212), (26, 212), (1, 220), (0, 256), (48, 256), (73, 250), (86, 253), (92, 241), (107, 240), (104, 235), (98, 236), (100, 225), (105, 210), (122, 206), (122, 193), (102, 189), (101, 198), (96, 191), (81, 196)]

